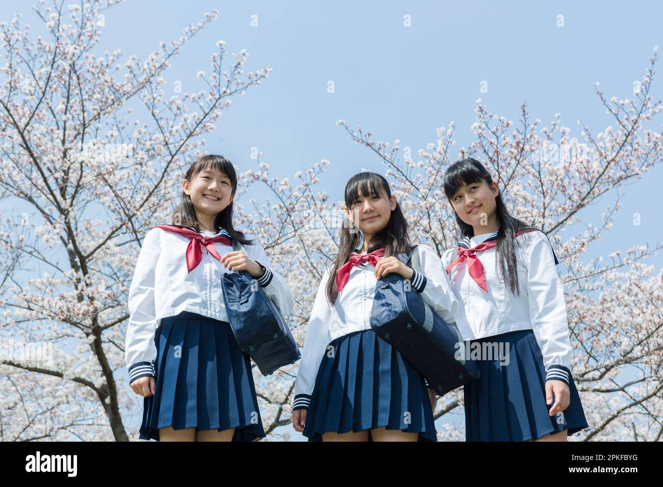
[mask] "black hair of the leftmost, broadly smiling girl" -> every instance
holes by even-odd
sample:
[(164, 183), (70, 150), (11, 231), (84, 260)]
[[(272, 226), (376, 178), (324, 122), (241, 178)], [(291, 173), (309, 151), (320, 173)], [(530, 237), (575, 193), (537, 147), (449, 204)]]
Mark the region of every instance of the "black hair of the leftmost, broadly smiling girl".
[[(232, 194), (235, 195), (235, 191), (237, 190), (235, 166), (223, 156), (210, 154), (194, 160), (186, 171), (184, 178), (191, 184), (200, 172), (211, 168), (215, 168), (228, 176), (233, 186)], [(214, 223), (218, 228), (225, 229), (234, 240), (241, 244), (253, 245), (255, 243), (255, 241), (247, 240), (242, 232), (235, 230), (233, 227), (233, 203), (230, 203), (222, 211), (217, 213)], [(177, 205), (172, 213), (172, 224), (178, 227), (194, 227), (200, 233), (200, 222), (196, 218), (194, 203), (191, 201), (191, 196), (184, 192), (184, 189), (182, 189), (180, 204)]]

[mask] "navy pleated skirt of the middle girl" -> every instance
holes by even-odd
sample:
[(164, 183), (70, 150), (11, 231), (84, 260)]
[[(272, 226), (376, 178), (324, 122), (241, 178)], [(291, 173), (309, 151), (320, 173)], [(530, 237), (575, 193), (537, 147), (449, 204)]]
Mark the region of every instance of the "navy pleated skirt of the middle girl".
[(333, 356), (322, 359), (306, 415), (303, 434), (309, 441), (322, 441), (328, 431), (383, 426), (437, 441), (424, 377), (398, 351), (373, 330), (343, 335), (329, 345)]

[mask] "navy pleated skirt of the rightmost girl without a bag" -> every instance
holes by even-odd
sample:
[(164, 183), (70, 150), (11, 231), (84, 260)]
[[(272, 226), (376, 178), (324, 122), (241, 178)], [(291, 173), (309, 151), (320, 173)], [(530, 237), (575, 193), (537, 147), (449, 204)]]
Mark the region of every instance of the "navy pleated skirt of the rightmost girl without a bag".
[[(573, 377), (570, 404), (554, 416), (546, 404), (546, 370), (534, 331), (521, 330), (473, 340), (509, 344), (509, 363), (477, 360), (479, 379), (464, 386), (466, 441), (526, 441), (566, 429), (573, 435), (587, 427)], [(505, 356), (507, 354), (505, 353)], [(505, 360), (506, 361), (506, 360)]]

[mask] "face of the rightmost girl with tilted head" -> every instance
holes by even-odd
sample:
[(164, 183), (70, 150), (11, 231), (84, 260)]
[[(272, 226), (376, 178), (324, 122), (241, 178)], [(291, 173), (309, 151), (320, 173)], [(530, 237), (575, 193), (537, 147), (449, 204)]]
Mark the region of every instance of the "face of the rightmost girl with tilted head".
[(479, 235), (476, 230), (480, 229), (481, 225), (488, 225), (495, 213), (497, 195), (499, 191), (495, 181), (490, 186), (485, 180), (469, 183), (453, 193), (453, 209), (463, 222), (474, 227), (475, 235)]

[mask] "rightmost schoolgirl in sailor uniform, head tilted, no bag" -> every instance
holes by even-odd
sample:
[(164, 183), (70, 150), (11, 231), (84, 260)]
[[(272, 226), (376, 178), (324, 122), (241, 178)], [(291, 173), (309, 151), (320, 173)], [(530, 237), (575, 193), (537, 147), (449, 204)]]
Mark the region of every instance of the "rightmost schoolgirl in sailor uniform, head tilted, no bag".
[[(452, 164), (444, 191), (462, 237), (457, 249), (442, 255), (460, 304), (456, 323), (470, 341), (466, 349), (487, 355), (476, 357), (479, 379), (463, 390), (466, 439), (566, 441), (587, 421), (570, 370), (566, 303), (552, 245), (509, 214), (479, 161)], [(496, 350), (506, 353), (487, 353)]]

